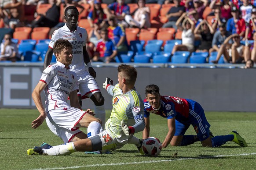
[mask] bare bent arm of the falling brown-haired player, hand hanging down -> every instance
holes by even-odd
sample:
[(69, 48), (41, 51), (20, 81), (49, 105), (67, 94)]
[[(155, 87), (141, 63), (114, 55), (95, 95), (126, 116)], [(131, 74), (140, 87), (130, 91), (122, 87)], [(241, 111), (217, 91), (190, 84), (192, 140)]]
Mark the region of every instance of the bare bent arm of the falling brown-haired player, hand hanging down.
[(45, 117), (47, 116), (47, 113), (45, 113), (44, 106), (42, 104), (41, 95), (40, 93), (44, 90), (44, 88), (47, 86), (47, 84), (43, 81), (39, 81), (37, 86), (32, 92), (32, 98), (34, 100), (34, 103), (37, 106), (37, 110), (39, 111), (40, 115), (37, 117), (36, 120), (33, 120), (31, 125), (32, 128), (36, 129), (39, 127), (43, 122)]

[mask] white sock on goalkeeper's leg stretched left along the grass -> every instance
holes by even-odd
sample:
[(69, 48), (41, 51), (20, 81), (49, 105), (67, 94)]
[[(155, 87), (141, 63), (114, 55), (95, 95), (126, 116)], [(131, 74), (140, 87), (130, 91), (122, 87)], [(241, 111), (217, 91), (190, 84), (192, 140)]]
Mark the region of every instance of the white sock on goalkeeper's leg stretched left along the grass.
[(65, 143), (58, 146), (53, 146), (50, 149), (43, 149), (44, 154), (47, 155), (69, 155), (76, 152), (74, 142)]

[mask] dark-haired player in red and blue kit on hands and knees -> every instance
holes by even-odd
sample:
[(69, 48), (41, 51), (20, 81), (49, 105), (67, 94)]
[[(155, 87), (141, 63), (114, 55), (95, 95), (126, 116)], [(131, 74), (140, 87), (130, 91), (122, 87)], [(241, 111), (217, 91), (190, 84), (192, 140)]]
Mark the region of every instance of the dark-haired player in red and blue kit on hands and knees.
[[(232, 131), (229, 135), (209, 135), (210, 124), (206, 120), (204, 109), (201, 105), (191, 99), (181, 99), (172, 96), (161, 96), (157, 85), (147, 85), (144, 99), (144, 119), (146, 127), (143, 131), (143, 139), (150, 135), (150, 113), (167, 118), (168, 133), (162, 146), (185, 146), (193, 144), (198, 140), (206, 147), (219, 147), (228, 141), (233, 141), (241, 147), (246, 147), (245, 140)], [(197, 135), (184, 135), (188, 127), (192, 125)]]

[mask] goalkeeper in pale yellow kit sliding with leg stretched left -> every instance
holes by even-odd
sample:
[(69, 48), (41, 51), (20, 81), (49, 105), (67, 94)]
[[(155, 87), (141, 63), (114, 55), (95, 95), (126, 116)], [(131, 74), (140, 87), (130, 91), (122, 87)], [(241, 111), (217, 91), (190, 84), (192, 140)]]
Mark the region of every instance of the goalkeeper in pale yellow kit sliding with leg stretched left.
[(135, 144), (140, 149), (142, 141), (133, 136), (145, 127), (143, 101), (134, 87), (137, 71), (125, 64), (119, 65), (117, 71), (117, 85), (113, 86), (110, 78), (103, 83), (103, 88), (113, 96), (113, 109), (109, 120), (106, 121), (105, 131), (88, 139), (53, 146), (50, 149), (28, 149), (28, 155), (69, 155), (77, 151), (108, 151), (119, 149), (127, 143)]

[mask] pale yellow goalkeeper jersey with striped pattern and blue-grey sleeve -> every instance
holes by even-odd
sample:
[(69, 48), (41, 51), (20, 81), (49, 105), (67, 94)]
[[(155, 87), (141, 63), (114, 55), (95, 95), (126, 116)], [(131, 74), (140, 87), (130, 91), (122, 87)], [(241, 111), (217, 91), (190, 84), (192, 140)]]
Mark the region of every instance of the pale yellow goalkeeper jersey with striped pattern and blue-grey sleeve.
[(133, 126), (135, 133), (143, 131), (145, 120), (143, 116), (143, 100), (139, 93), (134, 89), (123, 93), (119, 85), (110, 85), (107, 92), (113, 96), (112, 112), (110, 118), (106, 121), (105, 129), (114, 138), (124, 135), (121, 128), (121, 120), (128, 126)]

